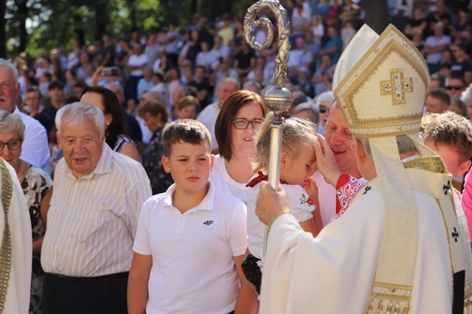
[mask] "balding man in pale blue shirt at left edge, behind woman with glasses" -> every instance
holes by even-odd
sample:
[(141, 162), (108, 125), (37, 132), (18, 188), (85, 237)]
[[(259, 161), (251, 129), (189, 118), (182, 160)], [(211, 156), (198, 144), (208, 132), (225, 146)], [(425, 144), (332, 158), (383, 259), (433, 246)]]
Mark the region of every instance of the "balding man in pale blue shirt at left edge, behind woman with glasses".
[(37, 120), (20, 112), (16, 106), (18, 93), (20, 93), (18, 70), (14, 64), (0, 59), (0, 109), (19, 115), (26, 127), (21, 158), (36, 167), (48, 169), (51, 152), (46, 130)]

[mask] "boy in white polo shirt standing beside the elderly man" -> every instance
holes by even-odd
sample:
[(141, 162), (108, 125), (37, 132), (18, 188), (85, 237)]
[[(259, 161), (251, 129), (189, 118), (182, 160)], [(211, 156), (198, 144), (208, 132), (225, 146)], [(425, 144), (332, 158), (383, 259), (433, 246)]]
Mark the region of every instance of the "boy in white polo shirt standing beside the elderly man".
[(232, 313), (244, 280), (246, 206), (215, 191), (211, 135), (191, 119), (168, 123), (162, 165), (172, 186), (144, 202), (128, 282), (133, 313)]

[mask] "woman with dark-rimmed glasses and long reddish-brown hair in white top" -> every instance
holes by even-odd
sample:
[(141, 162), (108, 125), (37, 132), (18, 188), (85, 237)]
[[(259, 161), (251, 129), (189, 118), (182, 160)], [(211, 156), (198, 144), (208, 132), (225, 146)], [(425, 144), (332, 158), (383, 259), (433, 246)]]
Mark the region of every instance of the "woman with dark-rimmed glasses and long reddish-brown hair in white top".
[(210, 182), (216, 189), (247, 202), (246, 184), (252, 177), (253, 137), (261, 129), (267, 106), (257, 93), (240, 90), (221, 105), (215, 136), (220, 154), (215, 156)]

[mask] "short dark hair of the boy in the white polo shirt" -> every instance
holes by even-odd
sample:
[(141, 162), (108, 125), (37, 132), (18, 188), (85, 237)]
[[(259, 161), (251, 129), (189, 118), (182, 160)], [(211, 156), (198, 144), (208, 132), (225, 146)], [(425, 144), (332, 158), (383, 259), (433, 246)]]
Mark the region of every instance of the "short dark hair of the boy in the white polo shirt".
[(162, 148), (164, 156), (169, 157), (172, 153), (172, 145), (188, 142), (198, 145), (202, 142), (211, 151), (211, 135), (206, 126), (193, 119), (179, 119), (167, 123), (162, 132)]

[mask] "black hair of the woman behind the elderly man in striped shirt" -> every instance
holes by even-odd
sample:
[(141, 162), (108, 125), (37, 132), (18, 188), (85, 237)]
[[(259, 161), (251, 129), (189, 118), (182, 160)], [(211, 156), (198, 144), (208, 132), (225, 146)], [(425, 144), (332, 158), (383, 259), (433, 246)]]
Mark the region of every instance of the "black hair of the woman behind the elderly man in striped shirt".
[(103, 99), (103, 108), (104, 113), (112, 114), (113, 120), (110, 125), (106, 128), (105, 136), (106, 136), (106, 143), (112, 149), (116, 141), (118, 141), (118, 135), (126, 134), (126, 129), (124, 127), (124, 112), (123, 107), (118, 101), (116, 95), (107, 88), (100, 87), (100, 86), (87, 86), (84, 89), (84, 92), (80, 95), (80, 98), (84, 95), (84, 93), (98, 93), (102, 95)]

